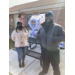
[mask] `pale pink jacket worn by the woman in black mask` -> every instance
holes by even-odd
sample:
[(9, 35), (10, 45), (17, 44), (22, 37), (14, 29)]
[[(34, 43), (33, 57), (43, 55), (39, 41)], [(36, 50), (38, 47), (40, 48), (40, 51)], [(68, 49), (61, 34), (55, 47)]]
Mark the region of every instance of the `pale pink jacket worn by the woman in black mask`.
[(27, 46), (28, 38), (29, 38), (28, 31), (27, 30), (26, 32), (25, 30), (22, 30), (22, 31), (17, 30), (17, 31), (18, 33), (16, 32), (16, 30), (14, 30), (11, 35), (11, 39), (15, 42), (15, 47)]

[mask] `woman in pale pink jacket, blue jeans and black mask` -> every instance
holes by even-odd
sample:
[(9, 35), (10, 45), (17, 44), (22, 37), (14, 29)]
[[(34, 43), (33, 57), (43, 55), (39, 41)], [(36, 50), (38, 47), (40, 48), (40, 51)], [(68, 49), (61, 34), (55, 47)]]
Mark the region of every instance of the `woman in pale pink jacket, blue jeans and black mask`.
[[(12, 32), (12, 40), (15, 42), (15, 48), (18, 53), (19, 67), (24, 67), (25, 54), (28, 46), (28, 31), (24, 29), (21, 22), (17, 22), (16, 30)], [(22, 60), (22, 64), (21, 64)]]

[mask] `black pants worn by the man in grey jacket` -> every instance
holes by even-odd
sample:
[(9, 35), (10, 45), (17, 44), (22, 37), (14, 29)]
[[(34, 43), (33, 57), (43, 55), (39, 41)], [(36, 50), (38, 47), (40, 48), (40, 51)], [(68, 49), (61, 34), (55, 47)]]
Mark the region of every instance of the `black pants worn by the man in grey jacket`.
[(59, 51), (47, 51), (42, 48), (42, 59), (43, 59), (43, 72), (47, 73), (49, 69), (49, 64), (51, 63), (54, 75), (60, 75), (59, 63), (60, 55)]

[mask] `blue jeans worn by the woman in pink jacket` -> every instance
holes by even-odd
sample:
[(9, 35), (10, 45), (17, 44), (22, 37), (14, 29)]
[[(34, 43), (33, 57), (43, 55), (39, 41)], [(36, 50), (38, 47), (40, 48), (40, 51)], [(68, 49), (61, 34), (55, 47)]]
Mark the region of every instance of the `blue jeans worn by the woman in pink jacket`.
[(27, 46), (26, 47), (15, 47), (15, 48), (16, 48), (16, 51), (18, 53), (19, 64), (21, 64), (21, 60), (22, 60), (22, 62), (24, 62), (24, 60), (25, 60), (25, 54), (27, 51)]

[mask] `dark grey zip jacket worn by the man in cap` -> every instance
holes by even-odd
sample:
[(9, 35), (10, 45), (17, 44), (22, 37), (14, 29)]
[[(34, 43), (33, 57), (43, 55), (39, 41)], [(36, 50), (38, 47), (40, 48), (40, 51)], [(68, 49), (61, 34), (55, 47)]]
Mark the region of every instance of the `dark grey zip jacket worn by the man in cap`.
[(52, 23), (46, 29), (46, 22), (41, 25), (38, 34), (40, 34), (42, 47), (48, 51), (59, 50), (59, 43), (65, 41), (65, 31), (62, 26)]

